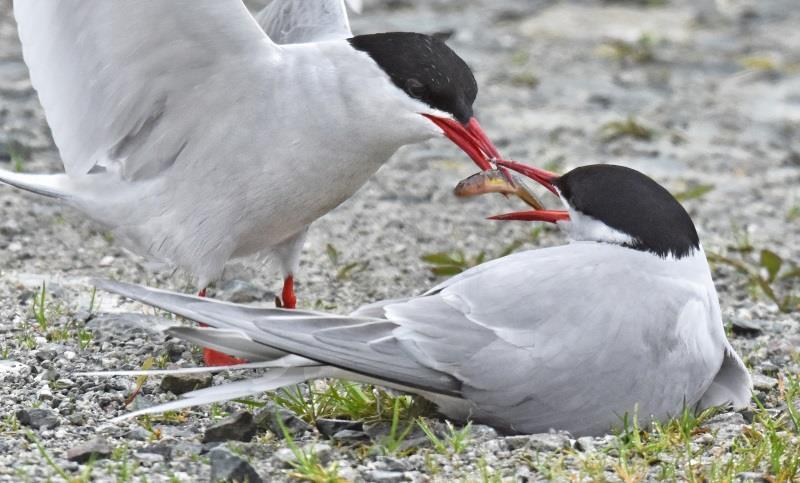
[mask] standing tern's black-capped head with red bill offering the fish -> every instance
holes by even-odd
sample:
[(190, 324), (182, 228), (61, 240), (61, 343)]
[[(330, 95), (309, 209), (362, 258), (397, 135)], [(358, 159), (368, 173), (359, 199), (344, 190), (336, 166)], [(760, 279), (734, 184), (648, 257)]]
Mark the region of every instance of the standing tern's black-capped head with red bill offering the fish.
[[(349, 40), (389, 77), (423, 136), (444, 135), (481, 169), (499, 158), (473, 113), (478, 84), (469, 66), (441, 39), (410, 32), (359, 35)], [(406, 127), (406, 126), (404, 126)]]

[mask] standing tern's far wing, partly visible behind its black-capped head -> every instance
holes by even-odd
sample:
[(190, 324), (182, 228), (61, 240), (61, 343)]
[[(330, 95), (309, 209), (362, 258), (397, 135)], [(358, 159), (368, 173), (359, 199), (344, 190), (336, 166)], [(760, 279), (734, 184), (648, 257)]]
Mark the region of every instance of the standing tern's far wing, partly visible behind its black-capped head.
[[(361, 2), (348, 2), (360, 10)], [(273, 0), (256, 15), (264, 32), (278, 44), (341, 40), (353, 36), (345, 0)]]

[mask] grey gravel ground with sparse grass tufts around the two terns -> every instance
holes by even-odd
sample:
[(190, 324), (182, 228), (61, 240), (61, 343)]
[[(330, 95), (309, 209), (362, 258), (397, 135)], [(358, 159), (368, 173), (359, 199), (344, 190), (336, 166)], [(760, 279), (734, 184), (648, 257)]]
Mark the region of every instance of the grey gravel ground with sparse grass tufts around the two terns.
[[(798, 302), (785, 299), (784, 308), (795, 312), (781, 312), (753, 280), (769, 278), (760, 258), (773, 261), (767, 266), (783, 260), (782, 273), (800, 261), (800, 11), (791, 8), (794, 0), (720, 1), (721, 10), (688, 0), (638, 6), (648, 3), (662, 2), (373, 0), (353, 24), (361, 33), (451, 32), (450, 44), (481, 86), (478, 116), (507, 157), (561, 171), (624, 164), (682, 193), (706, 250), (743, 260), (754, 274), (748, 280), (715, 264), (732, 342), (753, 369), (756, 397), (779, 421), (788, 414), (784, 380), (800, 373)], [(11, 0), (0, 0), (0, 167), (15, 164), (60, 169), (21, 60)], [(551, 230), (532, 236), (524, 224), (484, 221), (511, 207), (501, 197), (455, 199), (452, 187), (472, 172), (445, 141), (403, 149), (314, 225), (300, 305), (347, 311), (418, 293), (437, 280), (421, 260), (432, 252), (493, 255), (515, 240), (526, 248), (562, 242)], [(249, 443), (224, 443), (227, 450), (201, 442), (220, 415), (246, 409), (240, 404), (198, 408), (178, 421), (156, 421), (150, 431), (108, 422), (126, 410), (136, 381), (73, 372), (138, 368), (149, 357), (190, 366), (198, 354), (154, 331), (152, 312), (107, 294), (93, 297), (89, 276), (191, 288), (180, 273), (149, 273), (80, 215), (0, 187), (0, 481), (77, 479), (90, 470), (96, 481), (208, 481), (212, 468), (213, 477), (225, 478), (225, 469), (243, 460), (252, 467), (238, 470), (254, 469), (265, 481), (289, 478), (291, 450), (269, 431)], [(226, 276), (215, 296), (271, 300), (278, 288), (276, 273), (256, 261), (234, 263)], [(767, 284), (783, 301), (800, 292), (797, 280)], [(46, 309), (37, 319), (43, 281)], [(239, 376), (214, 381), (230, 377)], [(148, 380), (134, 406), (168, 399), (159, 383)], [(237, 424), (250, 428), (242, 418)], [(296, 437), (298, 445), (315, 444), (309, 451), (324, 465), (336, 462), (347, 480), (714, 480), (714, 465), (736, 457), (742, 438), (752, 437), (752, 420), (747, 411), (717, 416), (689, 436), (691, 457), (662, 454), (633, 473), (613, 435), (500, 437), (476, 427), (455, 456), (426, 448), (425, 438), (412, 437), (410, 450), (387, 456), (370, 451), (369, 442), (328, 441), (310, 428)], [(797, 444), (796, 428), (787, 431)], [(92, 443), (96, 437), (102, 444)], [(93, 465), (80, 462), (86, 443), (100, 446)], [(759, 480), (777, 472), (763, 456), (733, 473)]]

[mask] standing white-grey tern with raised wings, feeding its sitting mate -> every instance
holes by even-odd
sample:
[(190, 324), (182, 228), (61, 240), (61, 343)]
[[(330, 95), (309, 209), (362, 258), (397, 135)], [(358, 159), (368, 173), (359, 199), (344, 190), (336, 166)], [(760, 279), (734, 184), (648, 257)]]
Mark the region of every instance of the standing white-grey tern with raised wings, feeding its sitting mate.
[[(348, 0), (358, 6), (360, 1)], [(15, 0), (65, 174), (0, 171), (129, 248), (197, 277), (266, 255), (294, 308), (309, 225), (401, 146), (446, 136), (499, 157), (477, 83), (442, 41), (353, 36), (344, 0)]]

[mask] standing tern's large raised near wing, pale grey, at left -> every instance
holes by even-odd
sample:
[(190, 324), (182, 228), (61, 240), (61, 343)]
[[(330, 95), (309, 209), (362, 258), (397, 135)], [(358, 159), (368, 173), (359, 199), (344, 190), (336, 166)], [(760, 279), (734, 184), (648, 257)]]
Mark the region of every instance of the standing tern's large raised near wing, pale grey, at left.
[(219, 126), (250, 117), (237, 95), (278, 58), (241, 0), (15, 0), (14, 15), (70, 176), (150, 178), (189, 150), (226, 159)]

